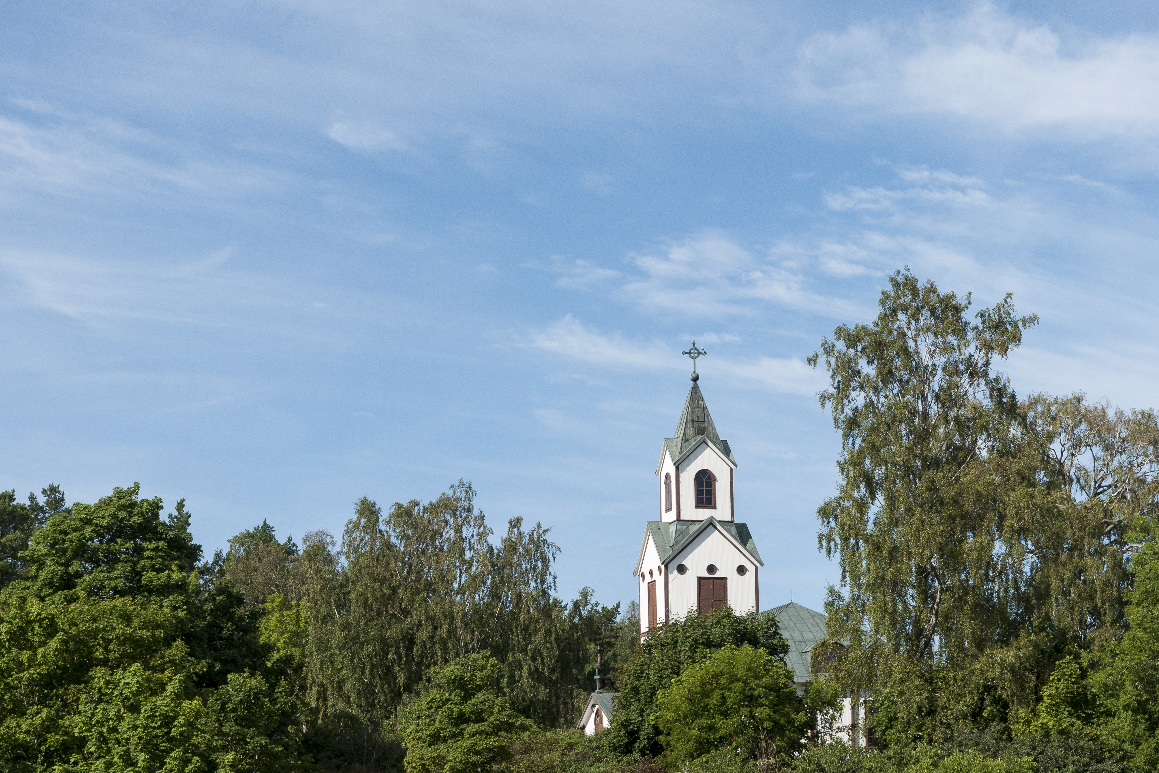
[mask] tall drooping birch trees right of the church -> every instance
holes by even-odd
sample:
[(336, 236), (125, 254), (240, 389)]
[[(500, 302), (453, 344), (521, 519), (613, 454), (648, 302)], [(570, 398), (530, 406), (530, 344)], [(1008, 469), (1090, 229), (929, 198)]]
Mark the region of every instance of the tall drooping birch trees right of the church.
[(996, 365), (1035, 318), (1009, 297), (972, 321), (969, 305), (898, 271), (874, 323), (837, 328), (810, 360), (843, 442), (818, 510), (841, 567), (834, 677), (874, 697), (890, 744), (1032, 710), (1059, 657), (1120, 635), (1124, 535), (1159, 493), (1151, 411), (1020, 403)]

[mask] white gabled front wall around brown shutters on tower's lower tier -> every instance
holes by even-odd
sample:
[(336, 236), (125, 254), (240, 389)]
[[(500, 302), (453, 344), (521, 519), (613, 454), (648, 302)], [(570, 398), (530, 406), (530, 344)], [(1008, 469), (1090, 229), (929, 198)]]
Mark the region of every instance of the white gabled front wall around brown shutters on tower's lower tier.
[[(676, 569), (680, 563), (688, 569), (683, 575)], [(716, 564), (715, 575), (708, 574), (709, 563)], [(738, 566), (744, 566), (744, 575), (737, 574)], [(728, 603), (737, 614), (760, 611), (757, 597), (757, 564), (743, 550), (737, 549), (732, 540), (713, 526), (697, 534), (688, 546), (669, 561), (668, 569), (669, 612), (672, 619), (683, 618), (698, 608), (698, 577), (727, 577)]]

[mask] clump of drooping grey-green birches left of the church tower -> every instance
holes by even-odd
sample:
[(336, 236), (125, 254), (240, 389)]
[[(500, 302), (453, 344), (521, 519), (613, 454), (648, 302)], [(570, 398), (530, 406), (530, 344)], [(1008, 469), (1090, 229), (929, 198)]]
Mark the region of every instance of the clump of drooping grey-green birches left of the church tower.
[(546, 727), (574, 721), (606, 615), (586, 589), (570, 604), (554, 597), (559, 548), (542, 526), (512, 519), (491, 545), (474, 496), (460, 482), (385, 516), (363, 498), (343, 534), (345, 566), (328, 535), (304, 540), (306, 672), (323, 713), (382, 736), (428, 671), (486, 649), (516, 710)]

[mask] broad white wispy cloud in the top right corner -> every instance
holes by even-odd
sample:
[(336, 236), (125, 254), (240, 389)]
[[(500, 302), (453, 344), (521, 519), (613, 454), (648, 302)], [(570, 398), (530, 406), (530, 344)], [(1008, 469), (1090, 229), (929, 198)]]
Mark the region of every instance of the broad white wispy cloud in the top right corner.
[(953, 116), (1009, 133), (1159, 137), (1159, 36), (1064, 36), (990, 3), (814, 35), (794, 74), (804, 101)]

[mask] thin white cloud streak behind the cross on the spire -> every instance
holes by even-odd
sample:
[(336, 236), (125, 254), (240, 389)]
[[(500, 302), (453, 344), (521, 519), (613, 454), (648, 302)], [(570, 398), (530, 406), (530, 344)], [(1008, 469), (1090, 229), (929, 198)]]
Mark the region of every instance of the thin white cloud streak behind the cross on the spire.
[[(701, 341), (721, 338), (701, 336)], [(723, 336), (731, 338), (734, 336)], [(658, 341), (643, 342), (620, 333), (604, 334), (571, 314), (541, 330), (519, 338), (517, 345), (589, 365), (615, 370), (683, 371), (687, 363), (672, 358), (672, 348)], [(822, 375), (795, 357), (756, 357), (751, 359), (714, 358), (714, 370), (734, 381), (778, 393), (814, 395), (824, 387)]]

